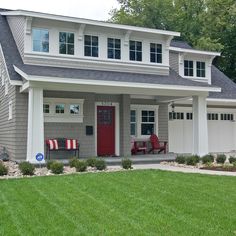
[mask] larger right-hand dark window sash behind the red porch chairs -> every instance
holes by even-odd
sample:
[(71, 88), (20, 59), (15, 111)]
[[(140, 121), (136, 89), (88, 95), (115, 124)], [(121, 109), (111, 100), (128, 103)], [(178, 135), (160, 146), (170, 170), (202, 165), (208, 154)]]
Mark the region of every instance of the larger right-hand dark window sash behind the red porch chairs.
[(155, 130), (155, 111), (142, 110), (141, 113), (141, 135), (151, 135)]

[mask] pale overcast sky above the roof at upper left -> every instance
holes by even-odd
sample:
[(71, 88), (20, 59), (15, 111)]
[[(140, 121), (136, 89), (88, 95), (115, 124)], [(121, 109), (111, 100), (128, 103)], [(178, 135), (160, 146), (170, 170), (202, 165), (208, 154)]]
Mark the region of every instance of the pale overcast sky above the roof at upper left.
[(23, 9), (93, 20), (108, 20), (117, 0), (0, 0), (0, 8)]

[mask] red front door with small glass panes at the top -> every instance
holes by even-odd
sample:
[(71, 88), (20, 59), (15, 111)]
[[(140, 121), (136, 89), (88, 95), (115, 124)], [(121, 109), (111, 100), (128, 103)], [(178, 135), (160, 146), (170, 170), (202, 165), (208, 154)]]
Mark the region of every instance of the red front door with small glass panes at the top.
[(97, 107), (97, 153), (115, 155), (115, 107)]

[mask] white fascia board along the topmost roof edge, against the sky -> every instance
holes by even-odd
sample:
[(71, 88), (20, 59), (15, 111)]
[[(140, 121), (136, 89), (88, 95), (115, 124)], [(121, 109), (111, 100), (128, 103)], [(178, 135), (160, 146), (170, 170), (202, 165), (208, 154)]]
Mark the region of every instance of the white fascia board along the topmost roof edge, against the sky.
[(174, 32), (174, 31), (158, 30), (158, 29), (151, 29), (151, 28), (144, 28), (144, 27), (137, 27), (137, 26), (130, 26), (130, 25), (120, 25), (120, 24), (114, 24), (114, 23), (109, 23), (109, 22), (104, 22), (104, 21), (96, 21), (96, 20), (83, 19), (83, 18), (70, 17), (70, 16), (60, 16), (60, 15), (55, 15), (55, 14), (40, 13), (40, 12), (33, 12), (33, 11), (16, 10), (16, 11), (0, 12), (0, 14), (5, 15), (5, 16), (38, 17), (38, 18), (49, 19), (49, 20), (66, 21), (66, 22), (79, 23), (79, 24), (85, 24), (85, 25), (87, 24), (87, 25), (94, 25), (94, 26), (101, 26), (101, 27), (109, 27), (109, 28), (114, 28), (114, 29), (151, 33), (151, 34), (180, 36), (179, 32)]

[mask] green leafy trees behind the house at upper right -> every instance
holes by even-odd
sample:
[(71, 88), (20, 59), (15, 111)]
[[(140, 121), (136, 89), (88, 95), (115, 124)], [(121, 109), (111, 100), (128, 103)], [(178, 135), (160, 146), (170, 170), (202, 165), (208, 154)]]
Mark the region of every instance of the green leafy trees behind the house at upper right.
[(117, 0), (110, 21), (181, 32), (194, 48), (221, 51), (217, 65), (236, 81), (235, 0)]

